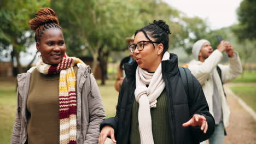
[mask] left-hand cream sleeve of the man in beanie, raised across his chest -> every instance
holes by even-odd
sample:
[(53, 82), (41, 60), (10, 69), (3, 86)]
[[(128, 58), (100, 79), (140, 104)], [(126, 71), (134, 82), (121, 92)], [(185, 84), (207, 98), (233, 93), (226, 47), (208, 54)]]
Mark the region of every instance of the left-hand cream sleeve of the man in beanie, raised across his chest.
[(203, 85), (207, 79), (210, 78), (211, 73), (217, 64), (222, 59), (222, 52), (219, 50), (213, 51), (213, 53), (202, 64), (189, 64), (188, 68), (196, 79)]

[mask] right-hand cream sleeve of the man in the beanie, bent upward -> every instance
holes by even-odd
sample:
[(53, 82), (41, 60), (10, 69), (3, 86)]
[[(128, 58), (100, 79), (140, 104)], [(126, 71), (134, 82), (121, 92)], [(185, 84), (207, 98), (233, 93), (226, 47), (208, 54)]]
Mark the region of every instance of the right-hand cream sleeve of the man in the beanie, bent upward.
[(229, 65), (219, 64), (219, 68), (222, 70), (223, 83), (227, 83), (242, 74), (243, 69), (240, 58), (238, 53), (235, 55), (236, 56), (229, 58)]

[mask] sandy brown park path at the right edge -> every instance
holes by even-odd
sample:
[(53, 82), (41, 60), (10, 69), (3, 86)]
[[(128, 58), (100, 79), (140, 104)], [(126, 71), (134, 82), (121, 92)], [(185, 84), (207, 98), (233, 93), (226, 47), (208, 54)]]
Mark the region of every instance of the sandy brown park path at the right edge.
[[(229, 127), (226, 128), (227, 136), (224, 137), (225, 144), (256, 144), (256, 121), (238, 103), (237, 96), (232, 93), (233, 86), (256, 86), (256, 83), (228, 83), (224, 85), (228, 104), (231, 110)], [(111, 140), (105, 144), (112, 144)]]

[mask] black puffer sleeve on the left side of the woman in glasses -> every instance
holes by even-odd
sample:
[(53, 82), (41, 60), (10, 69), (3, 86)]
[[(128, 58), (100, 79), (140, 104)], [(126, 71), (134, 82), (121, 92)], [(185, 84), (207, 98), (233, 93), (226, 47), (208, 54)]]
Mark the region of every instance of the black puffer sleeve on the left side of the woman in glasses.
[(117, 105), (117, 112), (115, 117), (110, 117), (105, 119), (100, 126), (100, 131), (102, 130), (102, 128), (106, 125), (109, 125), (110, 127), (112, 127), (114, 129), (114, 133), (115, 133), (115, 139), (117, 139), (117, 134), (118, 134), (118, 122), (119, 122), (119, 117), (120, 117), (120, 113), (121, 113), (121, 101), (123, 99), (123, 95), (124, 95), (124, 91), (127, 85), (127, 79), (125, 78), (123, 81), (123, 84), (121, 86), (119, 95), (118, 95), (118, 105)]

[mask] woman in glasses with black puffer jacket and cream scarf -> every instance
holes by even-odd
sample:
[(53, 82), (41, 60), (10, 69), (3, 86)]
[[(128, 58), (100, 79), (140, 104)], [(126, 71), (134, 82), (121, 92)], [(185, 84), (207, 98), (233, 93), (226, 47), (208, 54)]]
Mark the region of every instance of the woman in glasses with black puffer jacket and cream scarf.
[(117, 115), (101, 123), (99, 143), (199, 143), (214, 131), (214, 119), (200, 83), (185, 93), (178, 58), (168, 53), (168, 25), (162, 20), (135, 32), (129, 46), (136, 61), (125, 65), (126, 78)]

